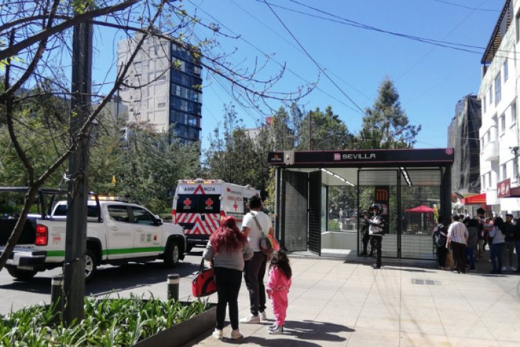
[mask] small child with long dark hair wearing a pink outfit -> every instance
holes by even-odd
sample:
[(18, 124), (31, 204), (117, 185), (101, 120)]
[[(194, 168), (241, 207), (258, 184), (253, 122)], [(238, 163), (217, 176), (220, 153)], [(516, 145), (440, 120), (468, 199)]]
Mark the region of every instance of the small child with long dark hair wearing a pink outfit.
[(283, 334), (286, 311), (288, 306), (287, 294), (291, 287), (291, 266), (284, 252), (273, 253), (269, 266), (269, 280), (266, 285), (268, 298), (272, 302), (272, 312), (275, 314), (276, 323), (268, 330), (270, 334)]

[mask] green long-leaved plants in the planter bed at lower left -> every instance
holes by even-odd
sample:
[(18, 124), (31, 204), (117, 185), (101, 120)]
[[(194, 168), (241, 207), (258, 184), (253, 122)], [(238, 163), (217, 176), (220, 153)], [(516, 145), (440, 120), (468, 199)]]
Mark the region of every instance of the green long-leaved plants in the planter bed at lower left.
[(184, 305), (153, 296), (85, 298), (85, 319), (65, 327), (55, 307), (31, 306), (0, 315), (1, 346), (132, 346), (205, 312), (207, 302)]

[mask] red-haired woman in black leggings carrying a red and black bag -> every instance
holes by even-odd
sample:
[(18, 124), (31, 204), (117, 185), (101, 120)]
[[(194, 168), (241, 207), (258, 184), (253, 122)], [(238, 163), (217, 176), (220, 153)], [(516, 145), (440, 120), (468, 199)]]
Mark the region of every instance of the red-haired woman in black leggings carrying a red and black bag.
[(239, 291), (244, 262), (253, 256), (253, 251), (248, 239), (236, 226), (234, 217), (228, 216), (220, 221), (220, 228), (209, 237), (202, 256), (213, 264), (217, 287), (217, 323), (213, 337), (223, 338), (226, 306), (229, 305), (231, 338), (240, 339), (242, 334), (239, 330)]

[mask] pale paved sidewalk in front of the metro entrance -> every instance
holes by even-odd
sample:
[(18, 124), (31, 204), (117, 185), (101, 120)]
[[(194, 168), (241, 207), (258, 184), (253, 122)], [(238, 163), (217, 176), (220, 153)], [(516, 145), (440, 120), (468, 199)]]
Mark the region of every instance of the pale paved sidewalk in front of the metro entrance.
[[(309, 257), (291, 257), (291, 265), (284, 335), (268, 335), (272, 322), (241, 324), (239, 341), (218, 341), (208, 331), (189, 346), (519, 346), (516, 274), (464, 275), (431, 269), (433, 263), (373, 270)], [(248, 302), (243, 283), (240, 317)], [(272, 317), (270, 305), (267, 314)], [(225, 337), (230, 333), (227, 325)]]

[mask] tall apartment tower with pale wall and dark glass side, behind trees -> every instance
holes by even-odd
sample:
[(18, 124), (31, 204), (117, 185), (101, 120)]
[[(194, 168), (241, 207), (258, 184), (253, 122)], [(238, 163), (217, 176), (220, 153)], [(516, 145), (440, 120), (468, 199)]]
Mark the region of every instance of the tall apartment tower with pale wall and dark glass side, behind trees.
[[(141, 35), (117, 44), (119, 69)], [(182, 45), (148, 37), (119, 90), (128, 105), (129, 123), (147, 124), (156, 131), (171, 128), (184, 141), (198, 141), (202, 130), (201, 71), (200, 60)]]

